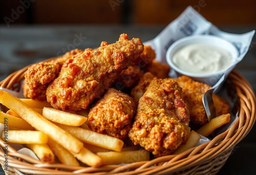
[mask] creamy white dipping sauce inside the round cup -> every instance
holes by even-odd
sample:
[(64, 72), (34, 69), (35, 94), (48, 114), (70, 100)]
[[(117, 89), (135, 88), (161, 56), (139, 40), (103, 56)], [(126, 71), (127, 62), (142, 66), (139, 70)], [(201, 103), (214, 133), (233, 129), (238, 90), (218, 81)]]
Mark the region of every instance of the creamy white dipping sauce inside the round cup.
[(179, 49), (173, 61), (183, 71), (208, 74), (227, 68), (232, 63), (232, 57), (219, 47), (195, 43)]

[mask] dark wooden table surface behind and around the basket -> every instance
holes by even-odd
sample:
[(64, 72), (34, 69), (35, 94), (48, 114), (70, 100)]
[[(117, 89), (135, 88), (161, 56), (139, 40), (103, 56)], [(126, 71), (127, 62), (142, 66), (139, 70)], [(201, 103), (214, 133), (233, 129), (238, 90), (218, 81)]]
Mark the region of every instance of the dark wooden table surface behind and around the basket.
[[(147, 41), (165, 26), (0, 26), (0, 81), (28, 64), (64, 54), (74, 48), (95, 48), (102, 40), (118, 40), (121, 33)], [(230, 33), (245, 33), (256, 26), (219, 26)], [(256, 37), (236, 68), (256, 91)], [(256, 129), (240, 142), (218, 174), (256, 174)]]

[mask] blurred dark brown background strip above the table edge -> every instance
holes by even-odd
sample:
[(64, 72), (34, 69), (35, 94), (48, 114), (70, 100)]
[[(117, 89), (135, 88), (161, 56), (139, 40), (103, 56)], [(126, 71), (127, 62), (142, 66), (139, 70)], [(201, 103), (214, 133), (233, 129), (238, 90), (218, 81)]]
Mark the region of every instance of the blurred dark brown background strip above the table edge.
[(187, 6), (215, 25), (256, 24), (250, 0), (0, 0), (0, 23), (167, 25)]

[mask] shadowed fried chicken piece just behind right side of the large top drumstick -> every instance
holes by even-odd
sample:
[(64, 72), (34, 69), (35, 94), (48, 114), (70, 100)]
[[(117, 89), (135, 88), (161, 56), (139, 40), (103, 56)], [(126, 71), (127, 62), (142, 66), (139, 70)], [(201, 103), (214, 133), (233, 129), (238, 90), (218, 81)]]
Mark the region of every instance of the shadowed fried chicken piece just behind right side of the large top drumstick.
[(117, 77), (116, 81), (113, 83), (115, 88), (132, 88), (135, 86), (141, 76), (145, 73), (147, 65), (156, 58), (155, 51), (151, 46), (144, 46), (144, 51), (135, 60), (132, 61), (132, 65), (123, 70)]

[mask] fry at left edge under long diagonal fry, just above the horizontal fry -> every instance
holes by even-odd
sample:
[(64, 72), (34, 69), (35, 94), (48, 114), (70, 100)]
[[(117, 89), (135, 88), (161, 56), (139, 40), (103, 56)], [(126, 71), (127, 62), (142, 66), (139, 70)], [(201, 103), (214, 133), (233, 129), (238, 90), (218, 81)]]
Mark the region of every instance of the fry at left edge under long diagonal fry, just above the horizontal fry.
[(22, 118), (11, 116), (2, 111), (0, 111), (0, 123), (20, 129), (35, 130), (28, 122)]

